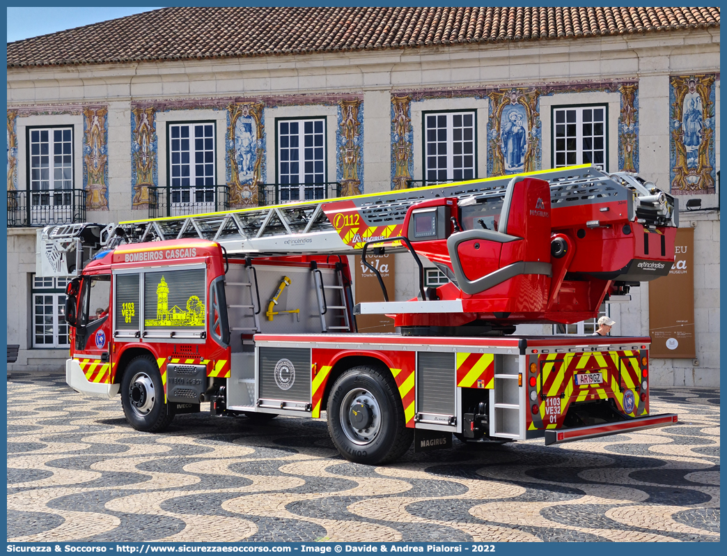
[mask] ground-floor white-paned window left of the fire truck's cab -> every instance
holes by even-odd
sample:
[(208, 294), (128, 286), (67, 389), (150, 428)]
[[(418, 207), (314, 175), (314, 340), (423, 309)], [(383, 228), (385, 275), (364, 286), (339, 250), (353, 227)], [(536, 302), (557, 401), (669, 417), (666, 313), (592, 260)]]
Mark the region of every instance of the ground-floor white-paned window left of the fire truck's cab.
[(66, 278), (41, 278), (33, 274), (31, 303), (33, 305), (33, 347), (70, 347), (68, 324), (65, 322)]

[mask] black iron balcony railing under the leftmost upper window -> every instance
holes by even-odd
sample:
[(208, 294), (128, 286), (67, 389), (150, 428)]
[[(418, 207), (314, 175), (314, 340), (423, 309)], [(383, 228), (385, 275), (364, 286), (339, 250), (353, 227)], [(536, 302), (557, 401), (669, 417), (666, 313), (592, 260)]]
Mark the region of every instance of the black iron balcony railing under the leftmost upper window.
[(8, 191), (7, 227), (85, 222), (86, 194), (84, 189)]

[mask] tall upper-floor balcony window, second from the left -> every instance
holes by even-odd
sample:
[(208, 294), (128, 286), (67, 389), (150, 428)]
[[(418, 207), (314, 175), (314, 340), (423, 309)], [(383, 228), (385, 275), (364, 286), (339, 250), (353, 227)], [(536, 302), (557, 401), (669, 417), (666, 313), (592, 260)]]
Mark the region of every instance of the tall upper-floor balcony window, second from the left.
[(168, 124), (167, 135), (172, 214), (214, 210), (214, 122)]

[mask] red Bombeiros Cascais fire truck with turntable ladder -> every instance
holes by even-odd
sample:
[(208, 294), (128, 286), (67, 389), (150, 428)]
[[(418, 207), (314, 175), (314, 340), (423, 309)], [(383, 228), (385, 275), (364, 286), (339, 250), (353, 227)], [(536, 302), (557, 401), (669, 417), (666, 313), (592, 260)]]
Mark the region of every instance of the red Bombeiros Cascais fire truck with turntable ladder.
[[(559, 444), (675, 423), (649, 414), (650, 338), (522, 336), (591, 319), (667, 274), (678, 204), (590, 165), (338, 199), (39, 232), (73, 276), (66, 380), (121, 396), (134, 429), (175, 415), (321, 418), (350, 461), (464, 442)], [(371, 255), (403, 253), (393, 301)], [(407, 255), (408, 253), (408, 255)], [(379, 277), (355, 304), (349, 258)], [(423, 261), (449, 280), (425, 287)], [(357, 261), (358, 263), (358, 261)], [(414, 267), (412, 267), (414, 268)], [(396, 333), (358, 333), (386, 314)]]

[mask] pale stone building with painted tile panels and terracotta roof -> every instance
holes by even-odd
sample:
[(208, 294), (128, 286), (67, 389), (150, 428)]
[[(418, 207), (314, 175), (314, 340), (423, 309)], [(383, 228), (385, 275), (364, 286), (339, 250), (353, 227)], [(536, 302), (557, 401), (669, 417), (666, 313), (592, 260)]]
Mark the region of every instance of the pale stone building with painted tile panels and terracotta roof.
[[(678, 196), (696, 357), (654, 359), (651, 384), (718, 386), (719, 22), (718, 8), (167, 8), (10, 43), (16, 365), (67, 354), (65, 280), (34, 275), (49, 223), (593, 163)], [(414, 266), (396, 263), (396, 298), (411, 298)], [(604, 308), (613, 333), (648, 335), (648, 289)]]

